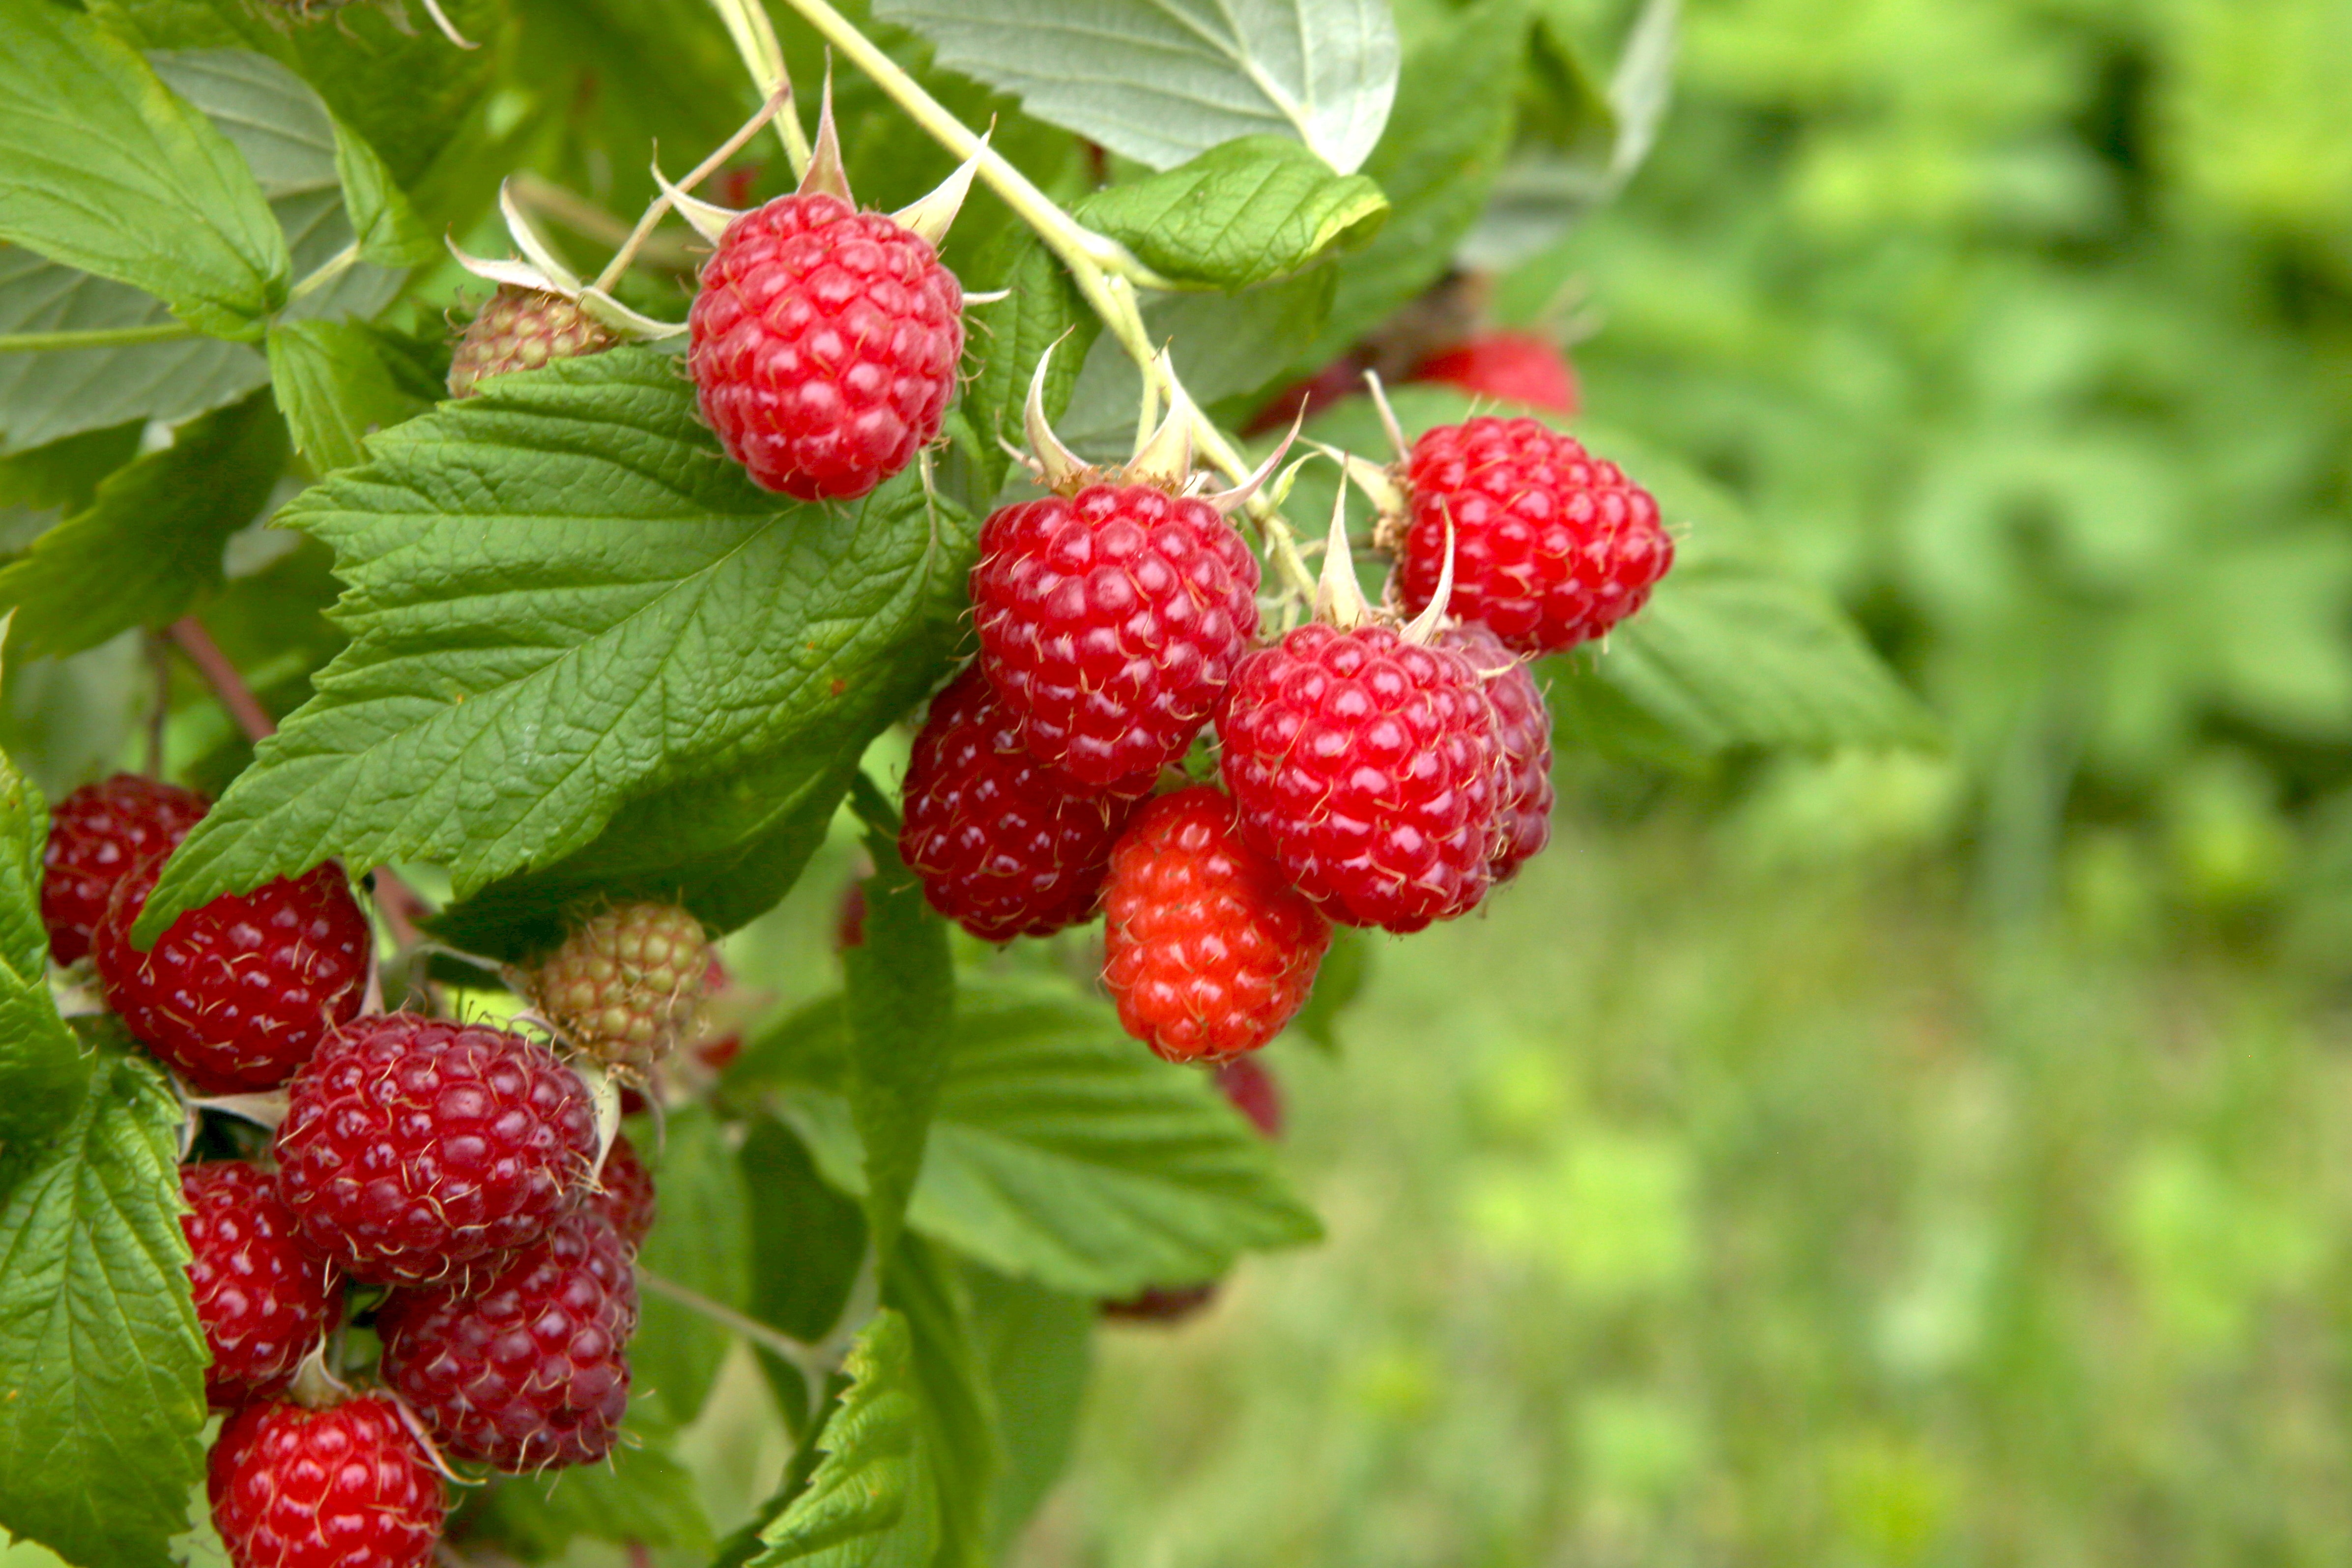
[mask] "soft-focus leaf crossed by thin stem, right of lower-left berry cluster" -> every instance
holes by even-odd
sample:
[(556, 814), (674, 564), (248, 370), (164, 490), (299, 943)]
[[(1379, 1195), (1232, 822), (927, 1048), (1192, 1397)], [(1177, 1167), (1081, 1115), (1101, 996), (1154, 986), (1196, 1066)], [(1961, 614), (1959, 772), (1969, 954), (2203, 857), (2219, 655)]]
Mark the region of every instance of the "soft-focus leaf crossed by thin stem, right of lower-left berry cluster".
[[(750, 1307), (750, 1194), (727, 1133), (706, 1105), (684, 1105), (668, 1117), (659, 1140), (640, 1140), (654, 1154), (654, 1187), (666, 1225), (644, 1239), (640, 1262), (722, 1307)], [(637, 1399), (661, 1408), (677, 1427), (691, 1422), (720, 1361), (727, 1331), (654, 1291), (642, 1293), (637, 1338), (630, 1340)]]

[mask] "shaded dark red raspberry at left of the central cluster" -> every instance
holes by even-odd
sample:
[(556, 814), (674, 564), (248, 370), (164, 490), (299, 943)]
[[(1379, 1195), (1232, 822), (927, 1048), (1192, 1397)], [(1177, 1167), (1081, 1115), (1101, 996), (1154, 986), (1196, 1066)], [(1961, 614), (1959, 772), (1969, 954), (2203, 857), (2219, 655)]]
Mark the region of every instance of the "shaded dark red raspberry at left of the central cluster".
[(1023, 748), (1018, 724), (974, 665), (931, 698), (906, 766), (898, 853), (931, 907), (1002, 943), (1094, 914), (1110, 846), (1152, 776), (1070, 792)]

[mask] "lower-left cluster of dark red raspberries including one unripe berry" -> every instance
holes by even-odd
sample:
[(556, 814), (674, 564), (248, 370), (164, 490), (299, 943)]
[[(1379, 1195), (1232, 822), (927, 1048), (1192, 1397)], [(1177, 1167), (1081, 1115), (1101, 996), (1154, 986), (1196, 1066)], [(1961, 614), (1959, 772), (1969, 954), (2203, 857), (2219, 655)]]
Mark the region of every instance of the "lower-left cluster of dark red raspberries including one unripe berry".
[[(113, 1009), (191, 1088), (285, 1100), (266, 1159), (181, 1168), (205, 1394), (226, 1413), (214, 1523), (240, 1568), (426, 1563), (437, 1462), (612, 1453), (654, 1178), (619, 1135), (600, 1161), (595, 1100), (555, 1048), (362, 1013), (372, 933), (336, 865), (216, 898), (139, 952), (132, 924), (202, 811), (139, 778), (75, 790), (42, 910), (52, 954), (82, 936)], [(715, 976), (703, 929), (659, 905), (590, 917), (560, 952), (562, 994), (630, 1051), (649, 1039), (635, 1004), (668, 1020)], [(388, 1286), (355, 1298), (388, 1394), (329, 1366), (353, 1284)]]

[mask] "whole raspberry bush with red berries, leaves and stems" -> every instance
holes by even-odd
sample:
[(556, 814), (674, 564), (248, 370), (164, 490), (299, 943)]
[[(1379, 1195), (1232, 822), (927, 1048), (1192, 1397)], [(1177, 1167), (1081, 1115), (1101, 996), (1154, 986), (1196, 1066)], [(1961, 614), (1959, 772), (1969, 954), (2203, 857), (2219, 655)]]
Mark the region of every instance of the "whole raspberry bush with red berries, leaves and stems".
[(26, 1552), (990, 1561), (1105, 1302), (1317, 1237), (1334, 924), (1519, 896), (1569, 736), (1919, 729), (1670, 461), (1472, 407), (1573, 404), (1461, 266), (1661, 49), (1616, 155), (1463, 106), (1585, 80), (1515, 0), (1268, 0), (1183, 96), (1155, 0), (421, 9), (0, 0)]

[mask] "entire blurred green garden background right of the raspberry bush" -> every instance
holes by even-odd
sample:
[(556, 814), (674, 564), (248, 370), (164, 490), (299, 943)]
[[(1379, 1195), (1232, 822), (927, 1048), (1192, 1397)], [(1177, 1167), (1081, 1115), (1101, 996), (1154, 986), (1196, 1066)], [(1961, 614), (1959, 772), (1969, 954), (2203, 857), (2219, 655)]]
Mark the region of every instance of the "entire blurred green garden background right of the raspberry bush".
[(1564, 736), (1016, 1561), (2345, 1561), (2352, 5), (1693, 0), (1494, 299), (1950, 748)]

